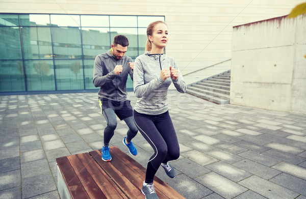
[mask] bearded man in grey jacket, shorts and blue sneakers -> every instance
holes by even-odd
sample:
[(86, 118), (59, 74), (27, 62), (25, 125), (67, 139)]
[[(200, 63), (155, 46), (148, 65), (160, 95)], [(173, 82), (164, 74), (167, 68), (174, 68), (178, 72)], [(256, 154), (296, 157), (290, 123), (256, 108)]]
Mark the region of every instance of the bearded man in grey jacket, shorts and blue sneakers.
[(129, 46), (129, 40), (123, 35), (114, 37), (111, 49), (106, 53), (96, 56), (93, 67), (93, 84), (100, 87), (99, 105), (102, 114), (107, 122), (104, 130), (104, 146), (102, 147), (102, 159), (111, 161), (109, 143), (117, 127), (116, 115), (120, 120), (124, 120), (129, 127), (126, 137), (122, 142), (134, 156), (137, 150), (132, 143), (132, 139), (137, 134), (137, 127), (133, 120), (133, 108), (130, 100), (127, 100), (126, 80), (130, 74), (133, 80), (134, 63), (132, 58), (124, 56)]

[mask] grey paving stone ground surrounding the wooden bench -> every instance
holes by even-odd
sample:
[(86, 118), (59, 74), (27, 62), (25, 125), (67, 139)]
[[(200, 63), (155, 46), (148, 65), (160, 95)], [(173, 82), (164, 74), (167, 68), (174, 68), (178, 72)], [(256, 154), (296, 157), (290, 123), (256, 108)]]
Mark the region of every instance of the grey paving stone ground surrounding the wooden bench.
[[(174, 179), (157, 176), (186, 198), (306, 198), (306, 115), (176, 91), (168, 104), (181, 156)], [(60, 198), (56, 158), (100, 149), (105, 126), (97, 93), (0, 96), (0, 199)], [(111, 145), (127, 153), (126, 131), (118, 121)], [(140, 133), (133, 143), (146, 167), (152, 149)]]

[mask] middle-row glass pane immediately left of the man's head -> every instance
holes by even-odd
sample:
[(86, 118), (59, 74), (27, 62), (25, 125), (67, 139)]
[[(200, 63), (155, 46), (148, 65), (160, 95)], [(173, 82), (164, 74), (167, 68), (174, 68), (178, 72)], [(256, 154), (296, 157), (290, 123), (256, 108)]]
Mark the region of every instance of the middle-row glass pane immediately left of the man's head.
[(82, 27), (82, 37), (84, 59), (94, 59), (111, 48), (109, 28)]

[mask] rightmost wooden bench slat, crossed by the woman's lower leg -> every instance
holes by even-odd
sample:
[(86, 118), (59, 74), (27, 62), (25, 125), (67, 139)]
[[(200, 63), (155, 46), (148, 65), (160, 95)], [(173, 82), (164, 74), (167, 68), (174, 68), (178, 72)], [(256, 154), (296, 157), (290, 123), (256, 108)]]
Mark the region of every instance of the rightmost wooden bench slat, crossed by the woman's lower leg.
[[(122, 162), (124, 162), (126, 166), (134, 169), (135, 174), (138, 173), (138, 175), (140, 175), (142, 178), (145, 177), (146, 169), (140, 163), (138, 163), (132, 157), (126, 155), (118, 147), (111, 147), (111, 149), (113, 150), (113, 154), (121, 158)], [(157, 193), (158, 191), (161, 191), (162, 193), (167, 195), (167, 198), (177, 198), (177, 199), (185, 198), (184, 196), (182, 196), (180, 193), (172, 189), (172, 187), (170, 187), (168, 184), (166, 184), (164, 181), (162, 181), (158, 177), (155, 176), (154, 180), (155, 182), (157, 182), (157, 183), (154, 183), (155, 190)]]

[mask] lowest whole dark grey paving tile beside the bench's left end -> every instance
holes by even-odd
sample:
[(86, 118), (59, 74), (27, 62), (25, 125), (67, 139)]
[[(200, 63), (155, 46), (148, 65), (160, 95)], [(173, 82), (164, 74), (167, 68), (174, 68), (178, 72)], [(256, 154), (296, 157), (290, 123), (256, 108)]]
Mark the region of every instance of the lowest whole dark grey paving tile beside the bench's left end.
[(56, 190), (57, 187), (50, 172), (22, 180), (22, 198), (38, 196)]

